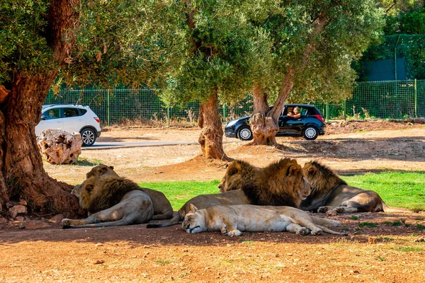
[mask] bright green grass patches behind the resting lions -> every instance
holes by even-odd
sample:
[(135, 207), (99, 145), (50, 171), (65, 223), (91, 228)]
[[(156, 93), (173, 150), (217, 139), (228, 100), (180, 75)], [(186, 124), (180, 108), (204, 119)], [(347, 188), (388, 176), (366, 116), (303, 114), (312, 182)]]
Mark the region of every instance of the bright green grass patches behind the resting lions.
[[(378, 192), (390, 207), (425, 210), (425, 174), (412, 172), (366, 173), (341, 176), (348, 185)], [(159, 182), (140, 183), (164, 192), (174, 209), (180, 209), (192, 197), (219, 193), (220, 180), (209, 182)]]

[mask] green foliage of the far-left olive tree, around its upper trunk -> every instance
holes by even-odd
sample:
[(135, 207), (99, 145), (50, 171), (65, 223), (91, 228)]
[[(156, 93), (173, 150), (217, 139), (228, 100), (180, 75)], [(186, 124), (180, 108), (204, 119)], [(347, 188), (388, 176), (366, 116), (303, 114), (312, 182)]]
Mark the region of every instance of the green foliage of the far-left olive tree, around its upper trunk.
[[(63, 40), (64, 66), (52, 58), (50, 30), (63, 19), (50, 17), (60, 1), (0, 2), (0, 83), (13, 74), (37, 74), (59, 69), (68, 86), (143, 86), (162, 83), (162, 76), (179, 64), (186, 35), (179, 26), (179, 1), (92, 1), (76, 6), (78, 22)], [(52, 7), (50, 7), (52, 6)]]

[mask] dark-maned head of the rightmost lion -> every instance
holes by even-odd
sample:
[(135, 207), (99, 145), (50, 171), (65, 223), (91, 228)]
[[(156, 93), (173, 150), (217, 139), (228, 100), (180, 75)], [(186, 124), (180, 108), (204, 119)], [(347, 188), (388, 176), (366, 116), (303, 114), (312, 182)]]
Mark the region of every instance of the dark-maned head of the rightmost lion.
[(347, 183), (329, 167), (319, 163), (319, 161), (309, 161), (302, 168), (305, 178), (311, 183), (312, 190), (328, 191), (337, 185)]

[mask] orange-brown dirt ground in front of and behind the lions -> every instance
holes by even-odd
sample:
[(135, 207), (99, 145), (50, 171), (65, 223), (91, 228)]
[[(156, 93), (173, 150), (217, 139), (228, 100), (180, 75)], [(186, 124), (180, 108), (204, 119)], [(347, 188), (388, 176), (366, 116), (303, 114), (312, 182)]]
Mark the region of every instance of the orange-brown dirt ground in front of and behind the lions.
[[(279, 137), (283, 149), (224, 139), (227, 156), (266, 166), (278, 158), (318, 159), (339, 174), (425, 173), (425, 125), (334, 122), (315, 141)], [(111, 128), (98, 141), (197, 141), (199, 129)], [(217, 180), (225, 163), (203, 161), (198, 145), (84, 149), (77, 166), (45, 163), (47, 173), (81, 183), (96, 163), (136, 182)], [(218, 192), (218, 190), (217, 190)], [(324, 216), (319, 215), (319, 216)], [(40, 216), (45, 220), (51, 215)], [(348, 236), (219, 232), (180, 225), (101, 229), (18, 229), (0, 224), (0, 282), (425, 282), (425, 212), (332, 216)], [(375, 226), (362, 226), (367, 222)]]

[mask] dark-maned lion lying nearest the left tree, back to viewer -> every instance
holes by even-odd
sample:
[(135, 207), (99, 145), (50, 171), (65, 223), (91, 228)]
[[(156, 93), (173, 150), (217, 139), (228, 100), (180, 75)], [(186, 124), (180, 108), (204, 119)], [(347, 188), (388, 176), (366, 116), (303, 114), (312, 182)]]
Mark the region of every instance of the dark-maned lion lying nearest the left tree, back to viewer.
[(125, 178), (92, 175), (72, 193), (82, 208), (93, 213), (86, 219), (62, 219), (62, 228), (89, 228), (142, 224), (152, 220), (154, 208), (146, 192)]

